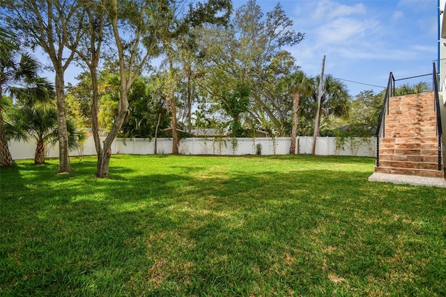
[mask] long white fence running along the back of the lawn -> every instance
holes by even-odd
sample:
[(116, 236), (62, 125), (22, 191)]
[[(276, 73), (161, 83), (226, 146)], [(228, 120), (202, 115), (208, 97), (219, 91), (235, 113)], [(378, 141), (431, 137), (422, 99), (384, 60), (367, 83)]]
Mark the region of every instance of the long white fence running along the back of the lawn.
[[(172, 152), (172, 139), (158, 138), (157, 153)], [(287, 155), (290, 148), (289, 137), (275, 138), (185, 138), (180, 139), (180, 153), (184, 155)], [(313, 137), (298, 137), (296, 139), (298, 154), (312, 153)], [(30, 142), (9, 142), (13, 159), (29, 159), (34, 157), (36, 144)], [(115, 139), (112, 153), (133, 155), (155, 154), (155, 139)], [(82, 149), (71, 151), (71, 156), (96, 155), (93, 137), (88, 137)], [(376, 156), (375, 137), (318, 137), (316, 155), (352, 155)], [(59, 157), (59, 146), (47, 147), (47, 157)]]

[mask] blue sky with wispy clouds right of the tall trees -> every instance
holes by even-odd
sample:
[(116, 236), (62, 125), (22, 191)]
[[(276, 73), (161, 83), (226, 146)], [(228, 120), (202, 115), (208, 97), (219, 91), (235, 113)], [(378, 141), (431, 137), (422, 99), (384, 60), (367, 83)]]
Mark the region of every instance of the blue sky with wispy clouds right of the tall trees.
[[(432, 73), (438, 59), (437, 0), (282, 0), (305, 40), (289, 50), (307, 75), (321, 72), (364, 84)], [(235, 8), (245, 1), (233, 1)], [(277, 1), (257, 0), (266, 13)], [(382, 88), (344, 81), (352, 96)]]

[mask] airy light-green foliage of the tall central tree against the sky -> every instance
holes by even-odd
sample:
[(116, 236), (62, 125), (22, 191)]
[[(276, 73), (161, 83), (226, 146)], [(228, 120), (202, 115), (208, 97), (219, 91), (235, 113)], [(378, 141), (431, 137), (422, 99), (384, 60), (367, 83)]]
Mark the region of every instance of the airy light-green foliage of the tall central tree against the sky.
[(245, 82), (251, 91), (248, 114), (254, 125), (284, 134), (291, 102), (284, 101), (276, 86), (281, 77), (298, 68), (284, 47), (303, 38), (303, 33), (293, 30), (293, 21), (282, 6), (277, 4), (264, 15), (256, 1), (248, 1), (236, 10), (229, 29), (203, 29), (201, 46), (207, 63), (206, 80), (201, 84), (221, 98), (217, 95), (222, 85), (233, 89), (238, 82)]

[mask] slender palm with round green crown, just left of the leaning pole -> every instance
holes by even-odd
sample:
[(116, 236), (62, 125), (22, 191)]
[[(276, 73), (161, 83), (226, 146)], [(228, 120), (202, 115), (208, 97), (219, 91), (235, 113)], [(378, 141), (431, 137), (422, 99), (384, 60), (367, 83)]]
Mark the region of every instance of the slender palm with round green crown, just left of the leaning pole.
[(296, 71), (295, 73), (284, 77), (281, 84), (286, 92), (289, 92), (293, 96), (293, 127), (291, 128), (291, 144), (290, 155), (295, 154), (295, 139), (298, 134), (298, 113), (300, 109), (299, 101), (300, 96), (311, 95), (314, 90), (314, 79), (307, 77), (302, 71)]

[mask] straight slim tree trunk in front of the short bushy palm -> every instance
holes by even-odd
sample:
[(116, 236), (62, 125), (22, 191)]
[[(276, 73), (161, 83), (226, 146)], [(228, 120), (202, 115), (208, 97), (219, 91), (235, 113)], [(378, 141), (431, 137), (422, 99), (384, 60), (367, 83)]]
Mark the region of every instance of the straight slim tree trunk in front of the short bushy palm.
[(65, 114), (65, 93), (63, 82), (63, 68), (56, 66), (56, 105), (57, 105), (57, 127), (59, 138), (59, 170), (58, 174), (72, 172), (70, 155), (68, 151), (67, 119)]

